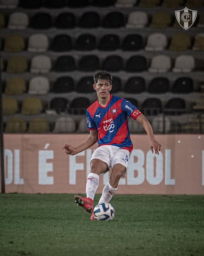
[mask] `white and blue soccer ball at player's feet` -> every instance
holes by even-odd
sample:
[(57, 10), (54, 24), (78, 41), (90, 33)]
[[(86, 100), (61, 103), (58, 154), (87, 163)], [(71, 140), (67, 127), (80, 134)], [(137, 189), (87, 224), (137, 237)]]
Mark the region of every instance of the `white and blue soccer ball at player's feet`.
[(115, 209), (109, 203), (97, 204), (93, 212), (96, 220), (113, 220), (115, 217)]

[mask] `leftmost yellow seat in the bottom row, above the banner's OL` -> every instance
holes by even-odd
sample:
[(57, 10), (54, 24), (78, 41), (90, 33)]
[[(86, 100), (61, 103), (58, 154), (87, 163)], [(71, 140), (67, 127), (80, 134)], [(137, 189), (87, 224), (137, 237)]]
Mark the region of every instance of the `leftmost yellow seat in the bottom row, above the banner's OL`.
[(6, 123), (5, 131), (8, 133), (23, 133), (27, 130), (26, 121), (23, 118), (13, 117)]

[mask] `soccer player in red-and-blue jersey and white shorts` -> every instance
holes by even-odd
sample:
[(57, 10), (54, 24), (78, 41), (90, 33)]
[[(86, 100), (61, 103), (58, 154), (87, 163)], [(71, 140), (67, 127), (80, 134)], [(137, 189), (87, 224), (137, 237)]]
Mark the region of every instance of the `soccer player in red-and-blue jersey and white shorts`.
[[(128, 129), (127, 116), (137, 120), (146, 131), (152, 153), (159, 154), (161, 145), (155, 139), (152, 127), (147, 118), (131, 102), (110, 94), (112, 76), (106, 71), (99, 71), (94, 76), (93, 88), (97, 100), (87, 109), (87, 127), (90, 134), (86, 141), (77, 147), (65, 144), (66, 154), (75, 155), (98, 142), (90, 160), (90, 173), (87, 177), (86, 194), (83, 198), (75, 195), (75, 203), (82, 206), (87, 213), (92, 213), (93, 200), (99, 184), (99, 175), (111, 170), (109, 182), (104, 186), (98, 203), (110, 202), (117, 190), (121, 177), (124, 177), (132, 142)], [(94, 214), (91, 220), (94, 220)]]

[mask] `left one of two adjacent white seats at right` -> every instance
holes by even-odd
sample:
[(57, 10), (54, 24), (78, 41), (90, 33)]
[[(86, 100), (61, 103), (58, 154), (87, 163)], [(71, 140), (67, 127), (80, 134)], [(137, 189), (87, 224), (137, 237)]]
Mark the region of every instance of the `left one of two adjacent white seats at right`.
[(167, 55), (157, 55), (152, 57), (151, 65), (148, 69), (150, 73), (165, 73), (171, 69), (171, 59)]

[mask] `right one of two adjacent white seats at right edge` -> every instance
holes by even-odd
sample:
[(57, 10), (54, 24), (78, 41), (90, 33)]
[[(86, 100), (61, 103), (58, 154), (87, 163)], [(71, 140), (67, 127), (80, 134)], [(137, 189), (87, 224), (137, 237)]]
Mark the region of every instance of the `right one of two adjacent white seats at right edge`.
[(193, 56), (180, 55), (176, 57), (173, 72), (191, 72), (195, 68)]

